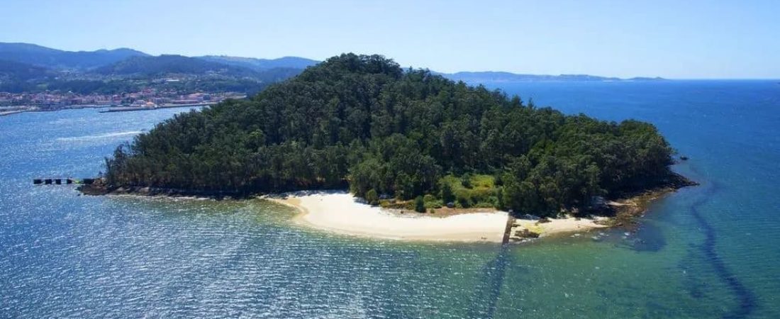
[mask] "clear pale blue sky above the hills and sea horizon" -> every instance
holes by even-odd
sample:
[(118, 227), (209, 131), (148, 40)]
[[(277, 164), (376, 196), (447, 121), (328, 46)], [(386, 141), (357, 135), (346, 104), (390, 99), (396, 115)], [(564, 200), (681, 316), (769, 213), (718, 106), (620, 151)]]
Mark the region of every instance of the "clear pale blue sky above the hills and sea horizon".
[(378, 53), (441, 72), (780, 78), (780, 1), (3, 0), (0, 41), (154, 55)]

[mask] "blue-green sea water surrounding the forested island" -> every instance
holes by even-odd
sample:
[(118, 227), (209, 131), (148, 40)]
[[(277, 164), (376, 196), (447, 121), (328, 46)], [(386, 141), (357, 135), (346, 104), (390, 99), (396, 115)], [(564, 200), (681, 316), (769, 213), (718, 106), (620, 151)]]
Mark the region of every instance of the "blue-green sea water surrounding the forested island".
[(501, 248), (301, 229), (264, 202), (82, 197), (115, 145), (182, 109), (0, 118), (0, 317), (780, 317), (780, 85), (502, 84), (653, 122), (701, 186), (622, 230)]

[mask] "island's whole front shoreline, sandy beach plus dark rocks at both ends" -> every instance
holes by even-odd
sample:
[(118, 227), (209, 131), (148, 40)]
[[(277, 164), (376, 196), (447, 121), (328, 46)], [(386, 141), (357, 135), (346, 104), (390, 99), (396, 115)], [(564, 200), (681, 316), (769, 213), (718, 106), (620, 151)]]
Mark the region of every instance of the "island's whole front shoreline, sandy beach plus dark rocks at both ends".
[[(687, 180), (686, 180), (687, 181)], [(215, 200), (260, 198), (295, 208), (296, 225), (346, 236), (423, 242), (523, 243), (537, 237), (558, 237), (596, 229), (634, 229), (654, 200), (681, 187), (665, 185), (643, 193), (624, 194), (593, 211), (558, 218), (516, 218), (494, 208), (456, 209), (446, 214), (417, 213), (364, 204), (346, 190), (304, 190), (261, 195), (257, 193), (174, 190), (154, 187), (83, 185), (85, 195), (140, 197), (195, 197)], [(583, 217), (586, 215), (587, 217)]]

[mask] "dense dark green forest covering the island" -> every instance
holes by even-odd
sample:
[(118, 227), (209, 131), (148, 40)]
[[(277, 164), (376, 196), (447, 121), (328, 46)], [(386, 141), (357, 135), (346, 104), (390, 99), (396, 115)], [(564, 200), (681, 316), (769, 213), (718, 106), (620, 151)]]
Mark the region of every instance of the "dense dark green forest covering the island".
[[(564, 115), (380, 55), (345, 54), (249, 100), (158, 124), (106, 159), (105, 178), (243, 194), (349, 186), (372, 201), (550, 215), (667, 183), (671, 164), (672, 148), (649, 123)], [(457, 198), (459, 180), (482, 198)]]

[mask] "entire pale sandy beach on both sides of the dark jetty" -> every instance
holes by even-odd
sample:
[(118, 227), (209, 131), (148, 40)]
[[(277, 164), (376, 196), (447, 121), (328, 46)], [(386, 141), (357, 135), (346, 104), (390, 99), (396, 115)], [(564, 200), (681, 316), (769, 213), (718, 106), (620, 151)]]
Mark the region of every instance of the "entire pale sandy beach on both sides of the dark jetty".
[[(346, 192), (285, 193), (261, 198), (296, 208), (298, 214), (293, 217), (293, 222), (297, 225), (378, 239), (505, 243), (609, 227), (600, 224), (608, 218), (548, 218), (539, 222), (513, 218), (506, 211), (495, 209), (463, 211), (447, 216), (406, 213), (363, 204)], [(523, 229), (530, 229), (535, 235), (519, 236), (518, 232), (522, 234)]]

